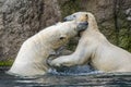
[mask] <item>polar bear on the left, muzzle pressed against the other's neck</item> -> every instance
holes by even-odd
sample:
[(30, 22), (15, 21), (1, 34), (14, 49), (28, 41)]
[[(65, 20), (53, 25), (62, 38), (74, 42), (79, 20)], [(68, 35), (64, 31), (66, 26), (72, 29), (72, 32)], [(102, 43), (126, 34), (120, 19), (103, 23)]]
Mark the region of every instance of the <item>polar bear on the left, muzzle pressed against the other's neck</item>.
[(9, 74), (20, 76), (44, 75), (48, 72), (47, 59), (58, 48), (86, 29), (87, 21), (75, 20), (49, 26), (22, 45)]

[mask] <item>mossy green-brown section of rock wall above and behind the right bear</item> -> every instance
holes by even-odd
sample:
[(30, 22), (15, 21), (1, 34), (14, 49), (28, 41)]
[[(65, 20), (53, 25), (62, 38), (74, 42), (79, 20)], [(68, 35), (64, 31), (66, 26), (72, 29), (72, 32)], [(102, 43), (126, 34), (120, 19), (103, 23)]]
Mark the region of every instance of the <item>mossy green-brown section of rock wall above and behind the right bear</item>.
[(76, 11), (92, 12), (107, 39), (131, 52), (131, 0), (59, 0), (59, 2), (62, 16)]

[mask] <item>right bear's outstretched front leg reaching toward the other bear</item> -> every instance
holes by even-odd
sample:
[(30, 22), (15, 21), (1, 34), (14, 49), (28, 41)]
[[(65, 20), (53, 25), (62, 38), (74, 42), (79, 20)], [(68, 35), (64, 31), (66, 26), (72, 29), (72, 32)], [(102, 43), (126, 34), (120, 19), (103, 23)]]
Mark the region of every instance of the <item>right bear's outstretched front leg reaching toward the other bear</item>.
[(52, 60), (49, 64), (51, 66), (73, 66), (87, 63), (92, 54), (92, 46), (86, 47), (83, 44), (79, 44), (74, 53), (70, 55), (62, 55)]

